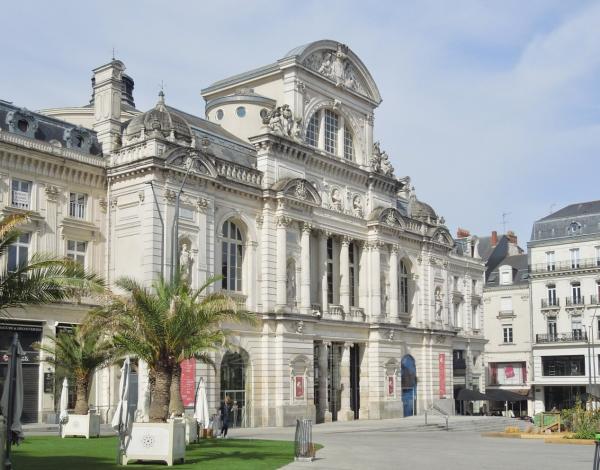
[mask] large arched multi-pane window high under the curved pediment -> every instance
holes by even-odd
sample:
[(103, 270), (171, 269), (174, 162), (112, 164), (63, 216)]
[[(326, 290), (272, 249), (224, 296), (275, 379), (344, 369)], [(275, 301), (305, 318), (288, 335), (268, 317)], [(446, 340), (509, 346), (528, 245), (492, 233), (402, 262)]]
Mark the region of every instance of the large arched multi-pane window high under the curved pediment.
[(308, 145), (345, 160), (355, 160), (352, 130), (342, 115), (331, 109), (316, 111), (306, 125)]

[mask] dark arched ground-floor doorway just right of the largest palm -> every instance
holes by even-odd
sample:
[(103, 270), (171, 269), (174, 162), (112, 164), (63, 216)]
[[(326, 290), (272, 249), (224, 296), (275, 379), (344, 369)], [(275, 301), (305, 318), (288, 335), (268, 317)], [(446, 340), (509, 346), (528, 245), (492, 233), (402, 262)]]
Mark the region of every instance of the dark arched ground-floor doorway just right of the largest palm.
[(247, 364), (240, 353), (227, 352), (221, 361), (221, 401), (233, 402), (233, 426), (245, 426)]

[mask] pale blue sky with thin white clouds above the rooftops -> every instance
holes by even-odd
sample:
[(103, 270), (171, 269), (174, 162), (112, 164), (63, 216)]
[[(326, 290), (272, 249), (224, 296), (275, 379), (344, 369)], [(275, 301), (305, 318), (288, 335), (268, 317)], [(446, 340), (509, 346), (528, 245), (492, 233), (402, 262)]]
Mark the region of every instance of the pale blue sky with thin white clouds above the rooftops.
[(116, 56), (137, 107), (203, 115), (200, 89), (328, 38), (370, 69), (375, 138), (420, 199), (472, 233), (600, 199), (600, 3), (33, 1), (2, 5), (0, 98), (85, 104)]

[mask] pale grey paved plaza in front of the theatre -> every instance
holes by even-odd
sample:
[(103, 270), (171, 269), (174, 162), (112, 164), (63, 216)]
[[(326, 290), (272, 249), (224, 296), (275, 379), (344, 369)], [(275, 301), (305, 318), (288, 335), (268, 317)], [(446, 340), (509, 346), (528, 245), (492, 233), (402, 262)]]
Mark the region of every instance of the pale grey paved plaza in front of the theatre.
[[(321, 424), (313, 439), (317, 460), (286, 469), (588, 470), (594, 447), (541, 440), (482, 437), (479, 431), (416, 428), (423, 417)], [(455, 424), (460, 418), (451, 418)], [(240, 429), (232, 437), (294, 438), (294, 428)]]

